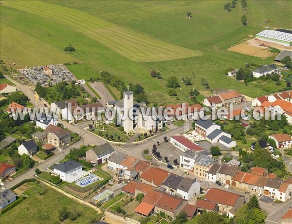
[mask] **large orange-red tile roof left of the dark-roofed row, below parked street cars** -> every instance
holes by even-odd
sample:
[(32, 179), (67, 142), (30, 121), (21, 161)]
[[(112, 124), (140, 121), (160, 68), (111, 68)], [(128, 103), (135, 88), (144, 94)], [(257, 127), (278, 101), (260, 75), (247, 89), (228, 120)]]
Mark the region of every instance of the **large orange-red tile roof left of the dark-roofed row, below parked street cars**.
[(169, 173), (164, 169), (150, 167), (146, 170), (146, 172), (141, 174), (140, 178), (150, 183), (153, 181), (156, 186), (160, 186), (168, 177), (168, 175)]

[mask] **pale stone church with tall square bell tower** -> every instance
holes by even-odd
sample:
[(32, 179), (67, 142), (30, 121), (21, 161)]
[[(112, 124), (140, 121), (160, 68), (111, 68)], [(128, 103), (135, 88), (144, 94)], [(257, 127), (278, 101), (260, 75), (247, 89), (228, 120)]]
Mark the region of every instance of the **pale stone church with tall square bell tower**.
[(114, 109), (118, 120), (124, 116), (124, 112), (128, 112), (128, 116), (121, 119), (121, 125), (127, 133), (155, 133), (163, 127), (162, 117), (157, 116), (155, 109), (152, 110), (144, 104), (135, 102), (132, 91), (125, 91), (123, 99), (114, 103)]

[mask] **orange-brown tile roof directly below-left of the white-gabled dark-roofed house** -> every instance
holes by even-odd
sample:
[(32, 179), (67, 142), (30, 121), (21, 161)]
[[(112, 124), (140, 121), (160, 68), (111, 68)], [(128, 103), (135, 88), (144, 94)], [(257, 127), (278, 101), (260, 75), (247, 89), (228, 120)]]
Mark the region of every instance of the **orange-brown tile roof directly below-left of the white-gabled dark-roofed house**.
[(180, 203), (183, 201), (186, 201), (186, 200), (165, 193), (158, 199), (155, 206), (169, 212), (174, 212), (178, 208)]

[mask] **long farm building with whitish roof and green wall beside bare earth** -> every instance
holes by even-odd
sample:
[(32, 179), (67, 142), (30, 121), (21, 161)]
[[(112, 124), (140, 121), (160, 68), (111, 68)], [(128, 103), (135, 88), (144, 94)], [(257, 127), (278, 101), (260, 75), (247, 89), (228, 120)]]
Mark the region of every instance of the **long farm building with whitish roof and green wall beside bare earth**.
[(292, 46), (292, 34), (281, 31), (263, 30), (256, 35), (256, 38), (284, 46)]

